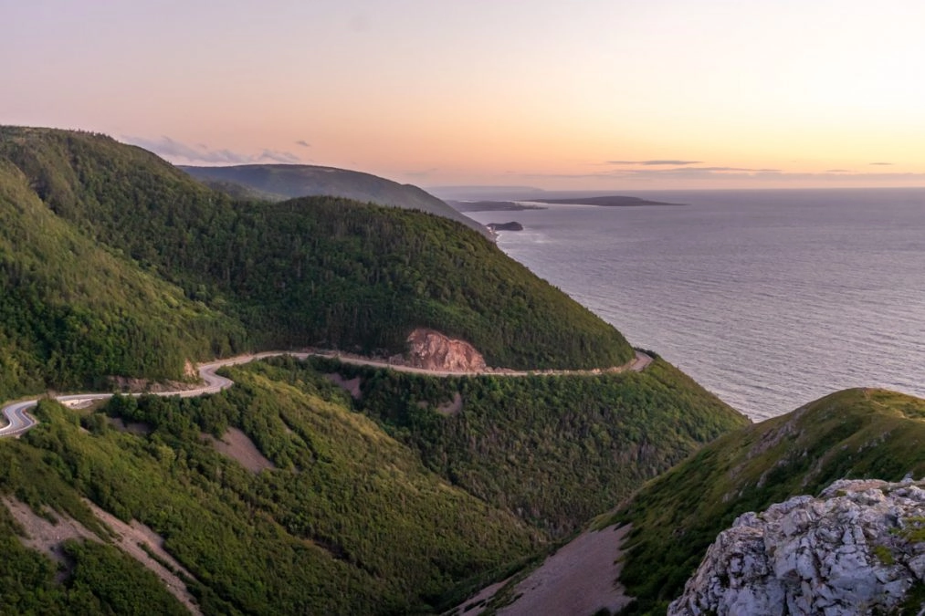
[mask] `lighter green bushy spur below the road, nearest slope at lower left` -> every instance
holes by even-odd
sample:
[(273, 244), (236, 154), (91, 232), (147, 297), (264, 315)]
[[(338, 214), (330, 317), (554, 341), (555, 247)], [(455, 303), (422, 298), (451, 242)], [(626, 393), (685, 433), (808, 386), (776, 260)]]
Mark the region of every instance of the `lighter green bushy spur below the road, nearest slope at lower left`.
[[(239, 385), (208, 399), (110, 403), (108, 413), (152, 425), (147, 437), (43, 402), (42, 425), (0, 441), (0, 490), (87, 521), (84, 496), (148, 524), (199, 580), (192, 591), (206, 613), (431, 610), (463, 580), (540, 545), (541, 534), (351, 413), (325, 379), (290, 385), (277, 373), (235, 369)], [(228, 425), (277, 468), (251, 474), (200, 437)], [(0, 524), (0, 541), (15, 545), (10, 525)], [(47, 567), (28, 550), (16, 558)], [(31, 593), (4, 598), (26, 604)]]

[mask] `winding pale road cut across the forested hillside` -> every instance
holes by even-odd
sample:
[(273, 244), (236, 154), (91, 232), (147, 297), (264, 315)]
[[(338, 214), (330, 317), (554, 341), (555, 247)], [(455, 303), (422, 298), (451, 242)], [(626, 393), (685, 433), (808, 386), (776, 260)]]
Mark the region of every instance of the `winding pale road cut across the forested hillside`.
[[(202, 396), (203, 394), (217, 393), (222, 389), (228, 389), (234, 385), (234, 381), (224, 376), (216, 375), (216, 371), (227, 365), (237, 365), (240, 363), (249, 363), (254, 360), (265, 359), (267, 357), (277, 357), (278, 355), (291, 355), (298, 359), (306, 359), (309, 356), (328, 357), (339, 360), (341, 363), (352, 363), (354, 365), (368, 365), (378, 368), (390, 368), (399, 372), (409, 372), (414, 374), (431, 375), (431, 376), (474, 376), (474, 375), (492, 375), (492, 376), (531, 376), (531, 375), (591, 375), (602, 374), (606, 372), (623, 372), (630, 370), (641, 372), (652, 363), (652, 358), (642, 351), (635, 351), (635, 359), (623, 366), (611, 368), (610, 370), (543, 370), (543, 371), (519, 371), (519, 370), (491, 370), (478, 373), (462, 372), (441, 372), (435, 370), (425, 370), (422, 368), (413, 368), (406, 365), (393, 365), (387, 362), (377, 362), (375, 360), (363, 359), (360, 357), (343, 356), (335, 352), (292, 352), (292, 351), (267, 351), (254, 353), (251, 355), (239, 355), (229, 357), (228, 359), (218, 360), (216, 362), (199, 364), (199, 376), (205, 385), (201, 388), (180, 389), (176, 391), (158, 391), (155, 396), (179, 396), (181, 398), (191, 398), (193, 396)], [(140, 393), (131, 394), (132, 396), (141, 396)], [(87, 402), (96, 400), (108, 400), (112, 398), (111, 393), (86, 393), (86, 394), (68, 394), (66, 396), (56, 396), (55, 400), (66, 406), (78, 406)], [(28, 411), (39, 403), (39, 398), (31, 400), (21, 400), (18, 402), (9, 402), (0, 413), (6, 418), (8, 425), (0, 428), (0, 437), (19, 437), (22, 433), (38, 425), (38, 420), (32, 417)]]

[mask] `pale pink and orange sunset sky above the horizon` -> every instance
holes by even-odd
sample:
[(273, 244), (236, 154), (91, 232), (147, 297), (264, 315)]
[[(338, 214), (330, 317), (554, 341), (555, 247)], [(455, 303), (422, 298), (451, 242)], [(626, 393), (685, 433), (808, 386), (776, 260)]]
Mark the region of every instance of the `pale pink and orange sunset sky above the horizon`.
[(925, 186), (925, 3), (0, 0), (0, 124), (420, 186)]

